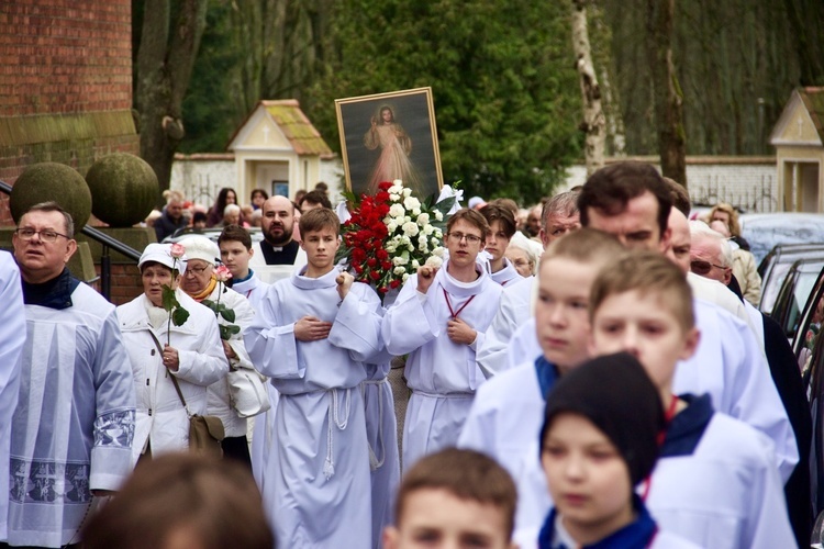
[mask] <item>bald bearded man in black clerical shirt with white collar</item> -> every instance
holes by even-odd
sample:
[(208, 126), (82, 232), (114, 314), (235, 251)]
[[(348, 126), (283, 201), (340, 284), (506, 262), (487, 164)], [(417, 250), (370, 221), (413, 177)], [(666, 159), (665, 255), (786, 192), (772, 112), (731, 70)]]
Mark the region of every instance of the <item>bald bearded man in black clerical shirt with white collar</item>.
[(307, 265), (307, 253), (293, 238), (294, 204), (288, 198), (271, 197), (260, 210), (264, 240), (252, 246), (249, 267), (260, 280), (272, 284)]

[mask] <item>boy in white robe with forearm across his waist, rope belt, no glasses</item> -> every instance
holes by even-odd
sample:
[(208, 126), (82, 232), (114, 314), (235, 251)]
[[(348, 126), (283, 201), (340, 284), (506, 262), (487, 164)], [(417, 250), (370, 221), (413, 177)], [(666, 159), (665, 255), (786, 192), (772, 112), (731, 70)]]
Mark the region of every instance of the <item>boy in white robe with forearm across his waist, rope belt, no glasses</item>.
[(371, 547), (369, 456), (359, 384), (382, 349), (380, 301), (335, 268), (339, 222), (301, 216), (308, 266), (269, 288), (246, 330), (280, 392), (264, 504), (278, 545)]

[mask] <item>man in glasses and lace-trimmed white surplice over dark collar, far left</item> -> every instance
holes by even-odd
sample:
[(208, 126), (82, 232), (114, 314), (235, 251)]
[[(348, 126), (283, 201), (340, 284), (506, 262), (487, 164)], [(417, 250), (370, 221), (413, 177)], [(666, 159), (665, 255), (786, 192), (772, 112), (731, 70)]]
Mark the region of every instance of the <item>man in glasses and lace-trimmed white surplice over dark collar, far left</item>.
[(29, 209), (12, 236), (26, 341), (11, 426), (11, 546), (79, 544), (92, 496), (132, 471), (135, 396), (114, 305), (74, 278), (71, 216), (55, 202)]

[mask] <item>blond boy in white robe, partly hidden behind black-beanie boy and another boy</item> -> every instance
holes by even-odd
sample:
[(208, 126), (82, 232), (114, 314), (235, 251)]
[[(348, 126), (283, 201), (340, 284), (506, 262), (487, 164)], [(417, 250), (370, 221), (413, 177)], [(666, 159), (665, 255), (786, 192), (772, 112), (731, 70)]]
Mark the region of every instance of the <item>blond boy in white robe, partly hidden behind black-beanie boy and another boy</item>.
[[(592, 228), (549, 245), (541, 258), (534, 311), (542, 354), (480, 386), (458, 439), (459, 447), (490, 456), (516, 479), (519, 529), (539, 526), (549, 505), (533, 451), (546, 394), (559, 376), (588, 358), (590, 287), (601, 268), (622, 254), (614, 236)], [(527, 469), (534, 474), (523, 474)]]

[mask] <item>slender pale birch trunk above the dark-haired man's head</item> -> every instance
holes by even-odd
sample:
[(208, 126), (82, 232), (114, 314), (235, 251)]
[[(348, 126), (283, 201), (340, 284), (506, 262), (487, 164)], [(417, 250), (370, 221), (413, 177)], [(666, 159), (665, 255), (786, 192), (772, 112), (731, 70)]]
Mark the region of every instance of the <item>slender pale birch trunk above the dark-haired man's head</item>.
[(601, 89), (592, 67), (592, 55), (587, 32), (587, 1), (572, 0), (572, 47), (576, 56), (578, 79), (581, 83), (583, 120), (580, 128), (587, 134), (584, 155), (587, 176), (603, 167), (606, 121), (601, 109)]

